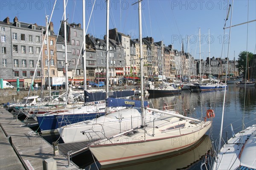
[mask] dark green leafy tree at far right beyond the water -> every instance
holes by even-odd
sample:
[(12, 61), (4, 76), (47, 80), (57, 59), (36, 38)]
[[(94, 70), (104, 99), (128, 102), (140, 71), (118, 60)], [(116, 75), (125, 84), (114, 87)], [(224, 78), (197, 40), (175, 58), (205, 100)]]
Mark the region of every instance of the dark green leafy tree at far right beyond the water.
[(248, 55), (248, 63), (250, 65), (250, 60), (253, 59), (253, 53), (248, 52), (248, 51), (240, 52), (240, 54), (238, 55), (239, 58), (237, 60), (238, 64), (236, 65), (236, 67), (239, 70), (239, 73), (243, 73), (243, 77), (245, 77), (245, 73), (246, 73), (245, 71), (246, 71), (246, 68), (248, 67), (247, 60), (246, 60), (247, 55)]

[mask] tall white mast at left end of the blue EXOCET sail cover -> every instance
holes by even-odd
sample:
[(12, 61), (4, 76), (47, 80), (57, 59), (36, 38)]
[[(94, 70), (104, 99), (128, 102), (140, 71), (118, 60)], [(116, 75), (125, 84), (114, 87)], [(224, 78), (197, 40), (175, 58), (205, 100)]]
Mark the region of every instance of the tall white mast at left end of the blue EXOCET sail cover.
[[(109, 46), (109, 0), (107, 0), (107, 23), (106, 23), (106, 99), (108, 98), (108, 77), (109, 77), (109, 68), (108, 68), (108, 46)], [(107, 107), (106, 107), (107, 108)], [(106, 112), (107, 113), (107, 112)]]

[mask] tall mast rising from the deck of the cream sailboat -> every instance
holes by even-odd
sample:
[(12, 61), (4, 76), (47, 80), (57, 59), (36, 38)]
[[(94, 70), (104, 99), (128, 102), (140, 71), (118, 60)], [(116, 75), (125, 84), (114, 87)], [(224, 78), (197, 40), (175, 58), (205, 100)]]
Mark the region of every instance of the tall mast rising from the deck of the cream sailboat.
[(144, 120), (144, 86), (143, 86), (143, 51), (142, 51), (142, 24), (141, 24), (141, 0), (138, 0), (139, 3), (139, 32), (140, 32), (140, 90), (141, 90), (141, 110), (142, 110), (142, 126), (145, 125)]

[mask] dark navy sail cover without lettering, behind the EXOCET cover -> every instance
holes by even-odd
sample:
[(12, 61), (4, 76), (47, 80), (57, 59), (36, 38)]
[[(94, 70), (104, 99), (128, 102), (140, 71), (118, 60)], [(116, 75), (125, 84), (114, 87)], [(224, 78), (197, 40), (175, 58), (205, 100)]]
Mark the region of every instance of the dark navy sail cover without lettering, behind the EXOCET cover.
[[(113, 93), (113, 94), (112, 94)], [(111, 92), (112, 95), (108, 96), (110, 98), (122, 98), (128, 96), (134, 96), (134, 91), (113, 91)], [(84, 102), (97, 102), (106, 99), (106, 92), (95, 92), (95, 93), (88, 93), (88, 91), (84, 91)]]

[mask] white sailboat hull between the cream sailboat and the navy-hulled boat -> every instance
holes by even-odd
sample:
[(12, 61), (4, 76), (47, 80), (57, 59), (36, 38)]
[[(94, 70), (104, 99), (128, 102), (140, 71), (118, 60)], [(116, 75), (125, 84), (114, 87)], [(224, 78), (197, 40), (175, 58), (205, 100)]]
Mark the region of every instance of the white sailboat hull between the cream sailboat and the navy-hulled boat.
[[(148, 112), (146, 121), (151, 121), (157, 117), (157, 114)], [(138, 127), (141, 124), (141, 113), (135, 108), (125, 108), (120, 111), (101, 116), (97, 119), (79, 122), (58, 128), (58, 132), (65, 143), (93, 141), (126, 130)], [(85, 133), (81, 133), (84, 131)]]

